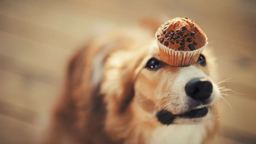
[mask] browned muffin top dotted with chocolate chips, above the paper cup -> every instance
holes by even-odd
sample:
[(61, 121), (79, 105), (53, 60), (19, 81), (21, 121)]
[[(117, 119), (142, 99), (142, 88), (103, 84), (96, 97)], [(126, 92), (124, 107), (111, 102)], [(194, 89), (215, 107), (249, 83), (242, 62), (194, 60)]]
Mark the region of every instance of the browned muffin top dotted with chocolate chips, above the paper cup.
[(193, 51), (206, 43), (206, 36), (194, 21), (174, 18), (163, 23), (156, 32), (159, 43), (175, 51)]

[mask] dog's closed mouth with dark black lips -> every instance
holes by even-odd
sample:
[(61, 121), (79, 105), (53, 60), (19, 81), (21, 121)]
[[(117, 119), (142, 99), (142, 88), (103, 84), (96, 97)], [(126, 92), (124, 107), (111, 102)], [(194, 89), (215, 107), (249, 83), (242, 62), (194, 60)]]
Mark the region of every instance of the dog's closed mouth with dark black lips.
[(184, 112), (182, 114), (176, 114), (174, 115), (172, 112), (169, 112), (167, 110), (160, 110), (159, 112), (157, 112), (157, 119), (162, 123), (162, 124), (172, 124), (174, 123), (174, 120), (176, 118), (202, 118), (204, 116), (206, 116), (208, 113), (208, 107), (204, 106), (204, 107), (200, 107), (200, 108), (193, 108), (187, 112)]

